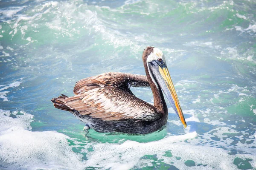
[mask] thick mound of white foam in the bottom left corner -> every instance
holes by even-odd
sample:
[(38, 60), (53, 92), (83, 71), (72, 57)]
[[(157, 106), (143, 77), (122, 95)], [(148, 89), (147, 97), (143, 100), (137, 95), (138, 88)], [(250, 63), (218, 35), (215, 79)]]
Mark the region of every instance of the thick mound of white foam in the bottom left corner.
[[(14, 115), (17, 112), (14, 112)], [(0, 160), (9, 169), (83, 169), (81, 155), (72, 151), (67, 139), (56, 131), (32, 132), (33, 115), (17, 118), (0, 110)]]

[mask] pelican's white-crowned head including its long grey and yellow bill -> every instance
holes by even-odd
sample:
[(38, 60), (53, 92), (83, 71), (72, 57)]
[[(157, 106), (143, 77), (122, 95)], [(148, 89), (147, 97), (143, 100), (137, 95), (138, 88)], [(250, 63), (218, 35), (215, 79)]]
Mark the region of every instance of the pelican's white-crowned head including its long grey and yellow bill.
[(179, 116), (180, 121), (186, 128), (186, 121), (180, 108), (180, 102), (172, 83), (163, 52), (154, 47), (148, 47), (146, 50), (148, 54), (146, 62), (151, 79), (158, 90), (160, 90), (159, 88), (162, 89), (172, 105), (173, 110), (176, 112), (177, 116)]

